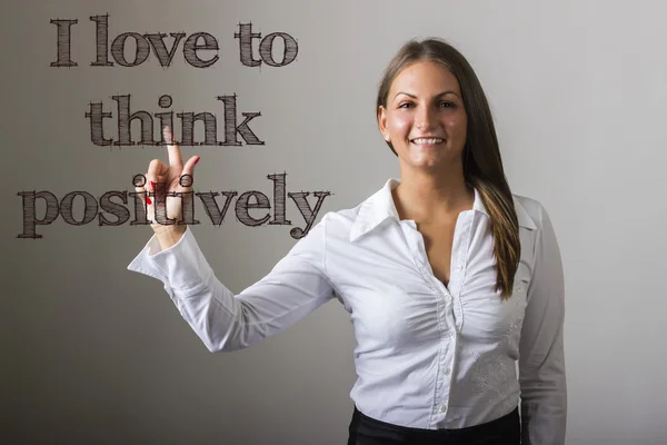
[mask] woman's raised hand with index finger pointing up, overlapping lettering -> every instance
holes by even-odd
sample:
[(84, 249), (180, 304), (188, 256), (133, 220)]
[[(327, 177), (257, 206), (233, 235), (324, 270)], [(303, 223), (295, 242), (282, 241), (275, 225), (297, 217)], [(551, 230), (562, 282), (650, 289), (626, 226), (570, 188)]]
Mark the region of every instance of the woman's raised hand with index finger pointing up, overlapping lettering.
[[(151, 221), (150, 227), (157, 235), (182, 234), (186, 231), (185, 224), (165, 224), (167, 219), (175, 219), (176, 222), (182, 220), (182, 198), (180, 196), (168, 196), (169, 194), (192, 191), (195, 165), (199, 161), (199, 156), (192, 156), (186, 165), (181, 159), (179, 147), (173, 144), (171, 128), (165, 127), (162, 130), (167, 151), (169, 154), (169, 166), (159, 159), (153, 159), (148, 166), (146, 174), (146, 185), (135, 187), (137, 192), (148, 191), (146, 197), (147, 218)], [(181, 186), (181, 177), (189, 175), (183, 179), (186, 187)], [(160, 202), (162, 216), (158, 215), (156, 219), (156, 204)], [(166, 202), (166, 206), (165, 206)], [(166, 217), (163, 216), (166, 210)], [(162, 222), (162, 224), (160, 224)]]

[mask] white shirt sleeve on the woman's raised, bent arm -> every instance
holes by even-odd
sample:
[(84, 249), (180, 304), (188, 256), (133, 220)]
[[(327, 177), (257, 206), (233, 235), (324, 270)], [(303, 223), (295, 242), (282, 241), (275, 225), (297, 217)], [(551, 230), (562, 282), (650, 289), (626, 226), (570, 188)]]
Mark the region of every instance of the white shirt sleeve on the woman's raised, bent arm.
[(210, 352), (230, 352), (257, 345), (332, 298), (325, 260), (326, 216), (268, 275), (239, 295), (216, 278), (189, 227), (165, 250), (153, 236), (128, 269), (162, 281)]

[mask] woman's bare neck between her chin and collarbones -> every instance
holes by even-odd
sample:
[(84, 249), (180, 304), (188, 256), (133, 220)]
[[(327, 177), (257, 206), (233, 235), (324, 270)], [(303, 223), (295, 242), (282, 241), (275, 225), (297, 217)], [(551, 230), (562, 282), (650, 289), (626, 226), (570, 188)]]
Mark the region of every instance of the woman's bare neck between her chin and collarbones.
[(400, 219), (421, 224), (446, 222), (470, 210), (475, 190), (466, 185), (462, 169), (447, 172), (402, 170), (400, 184), (392, 191)]

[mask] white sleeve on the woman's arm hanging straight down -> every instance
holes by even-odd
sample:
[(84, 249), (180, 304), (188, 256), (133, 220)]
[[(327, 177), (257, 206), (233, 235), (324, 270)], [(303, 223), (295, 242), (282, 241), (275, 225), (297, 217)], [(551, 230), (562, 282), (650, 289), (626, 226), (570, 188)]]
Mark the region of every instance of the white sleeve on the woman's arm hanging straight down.
[(521, 435), (524, 445), (563, 445), (567, 426), (565, 283), (554, 227), (539, 207), (535, 268), (519, 344)]

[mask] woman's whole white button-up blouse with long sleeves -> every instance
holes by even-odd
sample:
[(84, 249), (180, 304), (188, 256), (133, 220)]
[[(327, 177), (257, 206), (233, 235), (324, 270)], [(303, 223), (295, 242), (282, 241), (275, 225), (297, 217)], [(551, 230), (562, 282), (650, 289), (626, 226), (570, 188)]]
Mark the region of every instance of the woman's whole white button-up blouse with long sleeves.
[(564, 276), (545, 208), (514, 196), (521, 258), (512, 296), (501, 301), (479, 192), (457, 219), (445, 286), (415, 221), (398, 217), (398, 184), (390, 179), (359, 206), (325, 215), (238, 295), (216, 278), (190, 228), (166, 250), (153, 236), (128, 269), (162, 281), (211, 352), (257, 345), (338, 298), (357, 339), (350, 397), (361, 413), (408, 427), (461, 428), (520, 403), (524, 445), (564, 444)]

